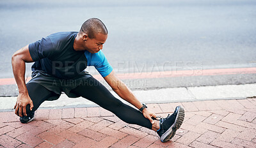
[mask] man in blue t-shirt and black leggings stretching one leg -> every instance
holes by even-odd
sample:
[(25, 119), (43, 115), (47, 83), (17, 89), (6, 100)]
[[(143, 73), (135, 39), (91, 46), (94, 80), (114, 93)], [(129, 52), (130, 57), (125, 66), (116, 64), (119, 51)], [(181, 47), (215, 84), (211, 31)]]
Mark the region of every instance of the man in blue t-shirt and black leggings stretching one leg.
[[(166, 118), (156, 117), (146, 105), (136, 99), (131, 90), (115, 75), (102, 53), (108, 38), (106, 26), (98, 18), (90, 18), (77, 32), (61, 32), (21, 48), (12, 56), (12, 67), (19, 88), (15, 114), (20, 122), (33, 120), (35, 110), (45, 100), (56, 100), (61, 92), (68, 97), (82, 96), (113, 112), (129, 124), (157, 131), (161, 141), (170, 140), (184, 119), (184, 109), (177, 107)], [(25, 84), (25, 63), (35, 62), (32, 78)], [(100, 82), (84, 71), (86, 66), (95, 66), (104, 80), (122, 99), (136, 110), (116, 99)]]

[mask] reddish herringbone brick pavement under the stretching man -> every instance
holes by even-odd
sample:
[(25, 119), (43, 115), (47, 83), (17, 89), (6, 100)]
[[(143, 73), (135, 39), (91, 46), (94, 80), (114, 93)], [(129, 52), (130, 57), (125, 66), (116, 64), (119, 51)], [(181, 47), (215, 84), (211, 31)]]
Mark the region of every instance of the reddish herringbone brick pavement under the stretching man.
[(154, 131), (91, 107), (39, 109), (28, 124), (20, 123), (13, 112), (0, 112), (0, 147), (256, 147), (256, 98), (148, 108), (164, 117), (177, 105), (185, 109), (184, 123), (165, 143)]

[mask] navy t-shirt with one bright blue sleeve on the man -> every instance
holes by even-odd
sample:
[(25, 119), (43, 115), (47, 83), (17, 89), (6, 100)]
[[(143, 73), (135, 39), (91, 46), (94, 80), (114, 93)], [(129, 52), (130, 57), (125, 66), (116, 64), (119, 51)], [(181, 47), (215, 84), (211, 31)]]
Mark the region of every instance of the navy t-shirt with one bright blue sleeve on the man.
[(102, 77), (111, 73), (113, 68), (103, 52), (91, 54), (88, 51), (74, 50), (77, 32), (54, 33), (46, 38), (29, 44), (29, 53), (35, 63), (32, 71), (40, 71), (58, 78), (73, 78), (87, 66), (95, 66)]

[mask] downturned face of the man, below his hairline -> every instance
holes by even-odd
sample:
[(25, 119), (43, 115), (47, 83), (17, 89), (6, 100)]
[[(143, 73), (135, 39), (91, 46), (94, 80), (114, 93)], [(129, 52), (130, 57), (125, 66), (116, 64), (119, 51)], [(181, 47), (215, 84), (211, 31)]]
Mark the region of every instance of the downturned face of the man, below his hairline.
[(88, 36), (84, 37), (86, 41), (84, 41), (84, 48), (88, 50), (88, 52), (95, 54), (102, 50), (103, 44), (108, 38), (108, 34), (96, 34), (95, 38), (89, 38)]

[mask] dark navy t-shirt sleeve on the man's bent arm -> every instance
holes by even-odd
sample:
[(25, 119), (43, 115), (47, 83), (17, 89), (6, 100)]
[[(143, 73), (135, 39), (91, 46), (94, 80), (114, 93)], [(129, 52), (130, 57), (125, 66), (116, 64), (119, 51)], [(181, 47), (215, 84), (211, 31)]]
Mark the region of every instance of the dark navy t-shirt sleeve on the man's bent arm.
[(49, 37), (42, 38), (34, 43), (30, 43), (28, 48), (29, 54), (33, 61), (38, 61), (39, 59), (43, 59), (45, 57), (51, 57), (54, 52), (52, 41)]

